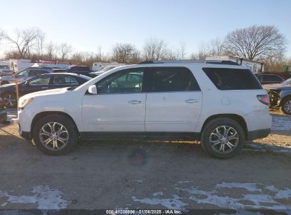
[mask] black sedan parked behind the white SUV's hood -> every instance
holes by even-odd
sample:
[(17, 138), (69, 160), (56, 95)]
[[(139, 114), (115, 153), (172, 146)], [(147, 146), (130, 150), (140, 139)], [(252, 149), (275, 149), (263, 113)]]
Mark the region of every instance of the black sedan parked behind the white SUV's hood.
[[(51, 90), (54, 88), (79, 86), (90, 79), (91, 78), (88, 76), (69, 73), (44, 74), (23, 83), (19, 83), (19, 96), (37, 91)], [(15, 83), (0, 86), (0, 95), (1, 98), (3, 98), (4, 105), (7, 108), (16, 107)]]

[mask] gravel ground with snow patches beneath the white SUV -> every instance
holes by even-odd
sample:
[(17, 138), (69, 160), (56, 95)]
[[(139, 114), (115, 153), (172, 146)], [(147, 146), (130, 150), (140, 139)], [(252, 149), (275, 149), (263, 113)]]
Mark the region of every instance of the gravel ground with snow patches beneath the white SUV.
[[(0, 209), (283, 209), (290, 214), (291, 117), (272, 115), (272, 134), (227, 161), (210, 158), (200, 144), (176, 141), (81, 141), (66, 156), (45, 156), (21, 139), (14, 122), (0, 127)], [(15, 120), (15, 112), (9, 116)]]

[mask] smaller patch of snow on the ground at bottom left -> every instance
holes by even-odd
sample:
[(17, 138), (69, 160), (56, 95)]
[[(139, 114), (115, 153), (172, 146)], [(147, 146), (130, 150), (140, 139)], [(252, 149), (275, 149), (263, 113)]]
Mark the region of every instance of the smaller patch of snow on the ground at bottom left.
[(0, 197), (6, 197), (6, 202), (13, 204), (38, 204), (38, 209), (65, 209), (69, 202), (62, 199), (62, 192), (50, 189), (49, 186), (36, 186), (31, 191), (33, 195), (16, 196), (0, 190)]

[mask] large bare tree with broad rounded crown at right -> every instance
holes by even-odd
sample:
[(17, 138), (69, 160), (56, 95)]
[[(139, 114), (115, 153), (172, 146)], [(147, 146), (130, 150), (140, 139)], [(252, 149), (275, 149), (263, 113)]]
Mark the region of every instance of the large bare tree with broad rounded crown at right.
[(248, 59), (267, 59), (285, 52), (285, 37), (275, 26), (257, 26), (236, 29), (225, 40), (229, 54)]

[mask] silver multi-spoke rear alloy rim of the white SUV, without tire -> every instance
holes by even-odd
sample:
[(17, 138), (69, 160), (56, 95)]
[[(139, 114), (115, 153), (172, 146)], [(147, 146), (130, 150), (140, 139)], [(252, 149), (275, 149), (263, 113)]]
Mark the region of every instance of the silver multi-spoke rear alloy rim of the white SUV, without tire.
[(210, 146), (218, 153), (230, 153), (239, 144), (239, 134), (228, 125), (215, 128), (210, 134)]

